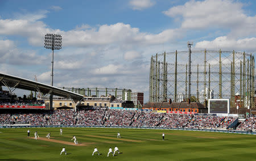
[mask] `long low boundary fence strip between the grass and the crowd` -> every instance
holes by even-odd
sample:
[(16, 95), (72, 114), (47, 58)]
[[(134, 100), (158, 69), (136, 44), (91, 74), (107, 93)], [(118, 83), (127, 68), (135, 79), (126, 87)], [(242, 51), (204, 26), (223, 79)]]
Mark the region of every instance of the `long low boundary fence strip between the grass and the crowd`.
[(84, 126), (84, 125), (19, 125), (19, 126), (0, 125), (0, 128), (126, 128), (126, 129), (185, 130), (185, 131), (220, 132), (220, 133), (256, 135), (256, 132), (247, 132), (247, 131), (241, 131), (241, 130), (162, 128), (162, 127), (146, 127), (146, 126), (134, 127), (134, 126)]

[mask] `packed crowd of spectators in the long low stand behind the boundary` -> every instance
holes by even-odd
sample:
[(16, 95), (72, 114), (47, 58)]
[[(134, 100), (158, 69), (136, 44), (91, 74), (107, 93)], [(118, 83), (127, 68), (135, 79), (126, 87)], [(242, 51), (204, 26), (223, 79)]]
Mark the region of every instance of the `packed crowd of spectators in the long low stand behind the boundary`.
[[(0, 114), (0, 124), (29, 122), (31, 125), (136, 126), (195, 129), (226, 129), (236, 118), (212, 115), (168, 114), (120, 109), (57, 109), (54, 111)], [(255, 117), (248, 118), (238, 130), (256, 129)]]

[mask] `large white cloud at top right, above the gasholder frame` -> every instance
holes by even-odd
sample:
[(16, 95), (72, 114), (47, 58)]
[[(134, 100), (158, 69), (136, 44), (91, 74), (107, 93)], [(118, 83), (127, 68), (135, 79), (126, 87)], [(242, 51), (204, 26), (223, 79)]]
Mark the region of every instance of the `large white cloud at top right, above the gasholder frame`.
[(256, 31), (256, 16), (247, 16), (242, 7), (242, 3), (232, 0), (191, 0), (163, 13), (181, 18), (181, 28), (225, 28), (230, 29), (229, 36), (248, 36)]

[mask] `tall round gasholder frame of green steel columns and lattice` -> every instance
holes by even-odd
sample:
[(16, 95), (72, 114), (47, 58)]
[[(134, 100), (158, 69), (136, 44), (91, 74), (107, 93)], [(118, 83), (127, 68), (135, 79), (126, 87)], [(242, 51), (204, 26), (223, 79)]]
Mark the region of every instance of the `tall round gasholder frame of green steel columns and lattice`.
[(176, 50), (156, 54), (150, 62), (148, 101), (171, 98), (177, 102), (193, 97), (204, 102), (208, 98), (228, 98), (231, 107), (236, 107), (238, 96), (240, 107), (254, 108), (254, 62), (253, 54), (235, 51)]

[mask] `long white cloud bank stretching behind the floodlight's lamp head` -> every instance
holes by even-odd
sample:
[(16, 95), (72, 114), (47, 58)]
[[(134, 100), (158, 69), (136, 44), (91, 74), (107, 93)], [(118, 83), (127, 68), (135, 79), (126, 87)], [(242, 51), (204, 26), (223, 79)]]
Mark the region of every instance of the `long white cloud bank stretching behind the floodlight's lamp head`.
[[(34, 15), (35, 16), (35, 15)], [(116, 23), (104, 24), (98, 28), (89, 28), (83, 25), (69, 31), (48, 28), (46, 24), (38, 20), (26, 19), (0, 19), (1, 35), (20, 35), (27, 37), (31, 45), (42, 46), (46, 33), (59, 33), (63, 36), (63, 46), (87, 47), (89, 45), (110, 44), (141, 44), (156, 45), (176, 40), (180, 37), (179, 29), (166, 29), (158, 34), (140, 32), (139, 28), (133, 28), (130, 24)]]

